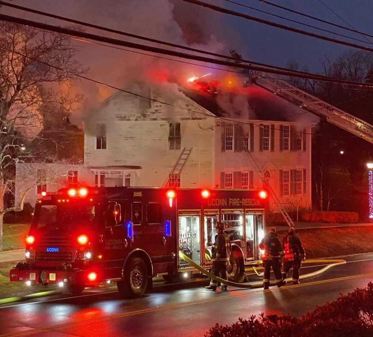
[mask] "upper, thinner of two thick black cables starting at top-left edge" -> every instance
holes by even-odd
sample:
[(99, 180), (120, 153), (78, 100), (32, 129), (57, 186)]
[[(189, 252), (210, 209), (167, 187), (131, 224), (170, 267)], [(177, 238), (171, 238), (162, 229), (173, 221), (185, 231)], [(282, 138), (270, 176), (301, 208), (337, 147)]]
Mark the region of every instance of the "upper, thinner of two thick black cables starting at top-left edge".
[[(12, 4), (12, 3), (6, 3), (4, 1), (0, 1), (0, 4), (3, 4), (4, 6), (9, 6), (9, 7), (15, 8), (15, 9), (20, 9), (20, 10), (23, 10), (23, 11), (26, 11), (26, 12), (35, 13), (35, 14), (43, 15), (43, 16), (48, 16), (50, 18), (59, 19), (59, 20), (63, 20), (63, 21), (66, 21), (66, 22), (70, 22), (70, 23), (74, 23), (74, 24), (78, 24), (78, 25), (82, 25), (82, 26), (86, 26), (86, 27), (90, 27), (90, 28), (95, 28), (95, 29), (98, 29), (98, 30), (107, 31), (107, 32), (110, 32), (110, 33), (115, 33), (115, 34), (124, 35), (124, 36), (128, 36), (128, 37), (133, 37), (133, 38), (137, 38), (137, 39), (148, 41), (148, 42), (159, 43), (159, 44), (163, 44), (165, 46), (175, 47), (175, 48), (184, 49), (184, 50), (189, 50), (189, 51), (192, 51), (192, 52), (197, 52), (197, 53), (202, 53), (202, 54), (206, 54), (206, 55), (216, 56), (216, 57), (219, 57), (219, 58), (225, 58), (225, 59), (232, 60), (234, 62), (239, 61), (239, 62), (244, 62), (244, 63), (248, 63), (248, 64), (259, 65), (261, 67), (268, 67), (268, 68), (273, 68), (273, 69), (278, 69), (278, 70), (283, 70), (283, 71), (293, 71), (295, 73), (307, 74), (308, 75), (308, 73), (304, 72), (304, 71), (292, 70), (292, 69), (289, 69), (289, 68), (283, 68), (283, 67), (278, 67), (278, 66), (274, 66), (274, 65), (268, 65), (268, 64), (264, 64), (264, 63), (260, 63), (260, 62), (254, 62), (254, 61), (251, 61), (251, 60), (237, 59), (237, 58), (222, 55), (222, 54), (219, 54), (219, 53), (212, 53), (212, 52), (209, 52), (209, 51), (206, 51), (206, 50), (196, 49), (196, 48), (192, 48), (192, 47), (186, 47), (186, 46), (182, 46), (180, 44), (175, 44), (175, 43), (170, 43), (170, 42), (166, 42), (166, 41), (156, 40), (156, 39), (153, 39), (153, 38), (149, 38), (149, 37), (145, 37), (145, 36), (141, 36), (141, 35), (136, 35), (136, 34), (120, 31), (120, 30), (115, 30), (115, 29), (108, 28), (108, 27), (94, 25), (94, 24), (91, 24), (89, 22), (78, 21), (78, 20), (75, 20), (75, 19), (66, 18), (64, 16), (59, 16), (59, 15), (55, 15), (55, 14), (52, 14), (52, 13), (42, 12), (40, 10), (35, 10), (35, 9), (28, 8), (28, 7), (23, 7), (23, 6), (19, 6), (19, 5), (16, 5), (16, 4)], [(314, 75), (317, 75), (317, 74), (314, 74)], [(319, 76), (319, 75), (317, 75), (317, 76)]]

